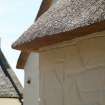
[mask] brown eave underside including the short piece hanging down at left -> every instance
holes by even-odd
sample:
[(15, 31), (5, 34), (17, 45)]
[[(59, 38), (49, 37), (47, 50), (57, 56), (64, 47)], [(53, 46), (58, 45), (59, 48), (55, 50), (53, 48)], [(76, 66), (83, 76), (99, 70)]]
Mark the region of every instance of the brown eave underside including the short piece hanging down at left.
[(56, 34), (53, 36), (46, 36), (37, 40), (33, 40), (30, 43), (24, 43), (23, 45), (16, 46), (15, 49), (23, 51), (18, 59), (17, 68), (24, 69), (30, 51), (38, 51), (39, 48), (59, 43), (62, 41), (72, 40), (77, 37), (85, 36), (95, 32), (100, 32), (105, 30), (105, 21), (101, 21), (90, 26), (77, 28), (75, 30)]

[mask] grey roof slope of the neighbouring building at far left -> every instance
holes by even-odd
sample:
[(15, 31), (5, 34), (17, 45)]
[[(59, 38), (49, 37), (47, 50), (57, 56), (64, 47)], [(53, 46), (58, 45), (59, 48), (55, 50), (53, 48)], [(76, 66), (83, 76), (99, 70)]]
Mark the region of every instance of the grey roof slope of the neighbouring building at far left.
[(18, 91), (22, 94), (23, 87), (0, 49), (0, 97), (20, 98)]

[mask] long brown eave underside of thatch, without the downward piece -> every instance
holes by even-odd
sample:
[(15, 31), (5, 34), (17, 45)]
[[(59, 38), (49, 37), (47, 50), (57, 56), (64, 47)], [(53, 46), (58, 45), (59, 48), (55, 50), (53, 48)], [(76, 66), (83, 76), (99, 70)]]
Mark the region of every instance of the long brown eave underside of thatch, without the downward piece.
[(81, 37), (81, 36), (95, 33), (95, 32), (100, 32), (103, 30), (105, 30), (105, 21), (97, 22), (89, 26), (76, 28), (71, 31), (62, 32), (62, 33), (51, 35), (51, 36), (46, 35), (44, 37), (39, 37), (30, 42), (19, 44), (13, 48), (24, 51), (24, 52), (38, 51), (38, 49), (41, 47), (60, 43), (62, 41), (72, 40), (77, 37)]

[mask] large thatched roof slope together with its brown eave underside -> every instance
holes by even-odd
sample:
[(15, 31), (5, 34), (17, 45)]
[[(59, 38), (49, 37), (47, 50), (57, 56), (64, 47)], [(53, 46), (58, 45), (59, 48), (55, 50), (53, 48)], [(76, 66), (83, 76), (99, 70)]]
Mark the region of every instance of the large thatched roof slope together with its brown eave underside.
[[(74, 36), (79, 32), (79, 34), (88, 34), (105, 30), (104, 20), (105, 0), (58, 0), (23, 33), (12, 47), (28, 50), (33, 46), (36, 50), (49, 44), (75, 38)], [(68, 33), (64, 34), (70, 31), (69, 36)]]

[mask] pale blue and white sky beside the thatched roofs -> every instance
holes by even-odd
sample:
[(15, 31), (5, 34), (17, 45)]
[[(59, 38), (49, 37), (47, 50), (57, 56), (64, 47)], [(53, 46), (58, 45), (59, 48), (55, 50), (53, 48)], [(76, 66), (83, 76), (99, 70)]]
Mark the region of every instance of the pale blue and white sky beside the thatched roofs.
[(34, 22), (42, 0), (0, 0), (1, 49), (22, 85), (24, 70), (16, 69), (20, 51), (11, 44)]

